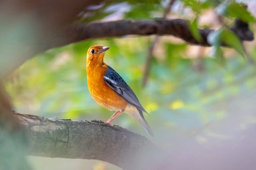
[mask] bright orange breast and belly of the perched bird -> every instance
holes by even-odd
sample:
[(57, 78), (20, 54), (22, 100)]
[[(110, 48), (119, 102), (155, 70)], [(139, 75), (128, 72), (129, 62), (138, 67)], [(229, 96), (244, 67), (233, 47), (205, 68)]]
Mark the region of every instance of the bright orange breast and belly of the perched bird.
[(86, 68), (89, 92), (92, 98), (106, 109), (115, 111), (125, 109), (127, 101), (116, 94), (116, 92), (104, 82), (103, 77), (107, 69), (108, 67), (102, 64), (94, 65), (92, 68)]

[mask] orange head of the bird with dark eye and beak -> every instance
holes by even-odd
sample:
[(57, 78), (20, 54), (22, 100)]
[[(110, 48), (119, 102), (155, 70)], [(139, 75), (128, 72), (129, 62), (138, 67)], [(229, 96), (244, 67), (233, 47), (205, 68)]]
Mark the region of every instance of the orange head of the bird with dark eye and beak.
[(103, 47), (102, 45), (94, 45), (90, 47), (87, 51), (86, 56), (86, 64), (89, 65), (90, 63), (95, 64), (104, 64), (103, 57), (105, 51), (107, 51), (109, 47)]

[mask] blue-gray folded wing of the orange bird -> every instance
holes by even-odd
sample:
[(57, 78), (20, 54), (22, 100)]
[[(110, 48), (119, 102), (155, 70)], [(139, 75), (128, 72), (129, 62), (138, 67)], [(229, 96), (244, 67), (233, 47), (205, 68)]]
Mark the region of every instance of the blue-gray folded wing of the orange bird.
[(108, 66), (108, 70), (104, 75), (104, 81), (117, 94), (130, 102), (130, 104), (135, 106), (137, 109), (147, 113), (146, 110), (141, 106), (137, 96), (134, 94), (132, 89), (128, 86), (128, 84), (126, 84), (124, 79), (110, 66)]

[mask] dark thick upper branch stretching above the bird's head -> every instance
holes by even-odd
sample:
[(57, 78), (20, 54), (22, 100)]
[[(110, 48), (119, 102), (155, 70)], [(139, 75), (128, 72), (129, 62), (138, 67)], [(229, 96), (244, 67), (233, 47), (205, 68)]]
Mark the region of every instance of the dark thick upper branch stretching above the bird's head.
[[(189, 23), (186, 20), (152, 20), (152, 21), (130, 21), (120, 20), (104, 23), (88, 23), (73, 25), (69, 34), (70, 42), (81, 41), (90, 38), (119, 37), (124, 35), (174, 35), (188, 43), (210, 46), (207, 36), (213, 29), (198, 29), (202, 41), (198, 42), (190, 32)], [(236, 20), (231, 30), (236, 33), (241, 41), (252, 41), (253, 33), (249, 30), (248, 24)]]

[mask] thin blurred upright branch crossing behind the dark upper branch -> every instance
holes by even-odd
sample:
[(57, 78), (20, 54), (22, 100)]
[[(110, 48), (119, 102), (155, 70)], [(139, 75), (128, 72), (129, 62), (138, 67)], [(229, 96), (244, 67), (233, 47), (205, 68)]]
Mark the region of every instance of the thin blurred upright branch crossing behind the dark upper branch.
[[(171, 11), (172, 4), (174, 3), (174, 1), (175, 0), (169, 1), (169, 4), (167, 5), (167, 7), (164, 11), (163, 19), (166, 19), (168, 13)], [(148, 50), (147, 60), (146, 60), (144, 74), (143, 74), (143, 78), (142, 78), (142, 86), (143, 87), (146, 86), (146, 83), (148, 81), (148, 74), (149, 74), (151, 62), (153, 59), (153, 51), (154, 51), (154, 48), (155, 48), (156, 44), (158, 43), (159, 39), (160, 39), (160, 36), (156, 35), (156, 37), (154, 37), (154, 40), (151, 43), (150, 49)]]

